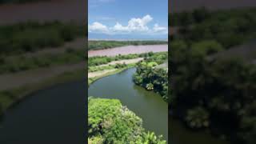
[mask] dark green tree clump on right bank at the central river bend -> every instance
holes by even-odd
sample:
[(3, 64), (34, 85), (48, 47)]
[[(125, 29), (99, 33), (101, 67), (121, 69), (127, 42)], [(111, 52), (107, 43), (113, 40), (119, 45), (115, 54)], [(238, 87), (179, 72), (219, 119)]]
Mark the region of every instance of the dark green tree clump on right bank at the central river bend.
[(162, 98), (168, 102), (168, 70), (165, 68), (157, 68), (158, 65), (166, 62), (167, 53), (155, 54), (152, 57), (145, 58), (143, 62), (139, 62), (136, 66), (134, 74), (134, 82), (146, 88), (146, 90), (154, 90), (160, 94)]

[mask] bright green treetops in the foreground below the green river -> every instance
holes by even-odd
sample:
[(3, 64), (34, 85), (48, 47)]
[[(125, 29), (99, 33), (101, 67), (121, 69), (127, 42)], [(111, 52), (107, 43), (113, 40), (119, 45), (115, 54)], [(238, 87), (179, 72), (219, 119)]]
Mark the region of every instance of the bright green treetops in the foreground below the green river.
[(166, 143), (162, 136), (146, 132), (142, 119), (119, 100), (90, 97), (88, 101), (89, 143)]

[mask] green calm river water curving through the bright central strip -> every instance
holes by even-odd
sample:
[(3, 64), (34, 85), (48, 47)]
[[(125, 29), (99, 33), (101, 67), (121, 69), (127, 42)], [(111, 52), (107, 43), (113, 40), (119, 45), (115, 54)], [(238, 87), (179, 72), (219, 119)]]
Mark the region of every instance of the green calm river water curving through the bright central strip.
[(143, 120), (146, 130), (168, 138), (168, 106), (160, 95), (134, 85), (135, 68), (101, 78), (90, 85), (89, 96), (117, 98)]

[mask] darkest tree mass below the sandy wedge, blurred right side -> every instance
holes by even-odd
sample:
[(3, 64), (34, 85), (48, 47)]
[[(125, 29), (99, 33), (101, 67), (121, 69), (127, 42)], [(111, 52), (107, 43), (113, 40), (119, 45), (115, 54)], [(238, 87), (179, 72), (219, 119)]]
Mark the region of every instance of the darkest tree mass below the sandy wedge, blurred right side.
[(245, 141), (242, 137), (256, 124), (256, 66), (240, 58), (210, 61), (203, 49), (190, 49), (183, 41), (171, 47), (174, 115), (191, 128), (209, 127), (214, 134)]

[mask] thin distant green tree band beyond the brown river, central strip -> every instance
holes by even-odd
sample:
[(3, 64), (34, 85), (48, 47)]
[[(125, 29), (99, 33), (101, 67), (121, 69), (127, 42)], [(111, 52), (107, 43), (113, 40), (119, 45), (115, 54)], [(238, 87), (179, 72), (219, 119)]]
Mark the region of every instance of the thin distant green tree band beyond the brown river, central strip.
[(110, 49), (119, 46), (162, 45), (167, 41), (89, 41), (88, 50)]

